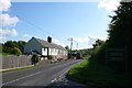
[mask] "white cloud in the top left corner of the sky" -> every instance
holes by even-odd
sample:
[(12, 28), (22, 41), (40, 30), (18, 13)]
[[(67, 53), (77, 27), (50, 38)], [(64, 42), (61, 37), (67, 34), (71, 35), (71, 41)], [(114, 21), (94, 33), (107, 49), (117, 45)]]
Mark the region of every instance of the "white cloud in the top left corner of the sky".
[(0, 0), (0, 12), (7, 12), (11, 7), (10, 0)]

